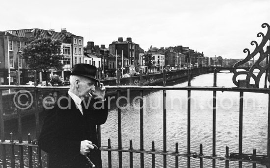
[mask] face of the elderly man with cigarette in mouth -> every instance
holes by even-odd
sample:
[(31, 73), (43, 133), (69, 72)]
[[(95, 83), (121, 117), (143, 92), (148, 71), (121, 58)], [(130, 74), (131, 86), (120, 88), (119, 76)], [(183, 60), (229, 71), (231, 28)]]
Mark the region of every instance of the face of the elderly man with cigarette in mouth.
[(90, 96), (88, 93), (95, 92), (96, 82), (90, 78), (82, 78), (78, 84), (78, 91), (81, 97), (87, 98)]

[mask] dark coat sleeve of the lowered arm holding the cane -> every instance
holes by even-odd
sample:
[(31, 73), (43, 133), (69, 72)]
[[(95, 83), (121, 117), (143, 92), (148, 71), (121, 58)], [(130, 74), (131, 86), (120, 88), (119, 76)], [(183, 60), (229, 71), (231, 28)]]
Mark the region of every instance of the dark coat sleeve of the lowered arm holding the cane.
[(62, 127), (57, 110), (51, 110), (44, 120), (38, 140), (39, 147), (45, 152), (56, 155), (79, 155), (81, 142), (64, 139), (62, 131), (60, 131), (63, 129)]

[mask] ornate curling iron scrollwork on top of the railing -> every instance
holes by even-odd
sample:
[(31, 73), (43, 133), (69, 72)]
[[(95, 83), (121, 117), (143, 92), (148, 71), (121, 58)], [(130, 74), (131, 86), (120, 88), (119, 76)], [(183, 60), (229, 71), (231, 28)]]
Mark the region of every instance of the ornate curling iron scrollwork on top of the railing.
[[(260, 45), (256, 41), (252, 41), (250, 44), (253, 46), (255, 45), (255, 49), (252, 53), (250, 53), (249, 49), (245, 48), (243, 50), (244, 53), (247, 52), (247, 56), (245, 59), (242, 61), (237, 62), (233, 66), (233, 83), (238, 86), (238, 87), (246, 87), (246, 88), (259, 88), (259, 83), (260, 83), (260, 78), (264, 72), (266, 72), (269, 69), (269, 62), (267, 61), (267, 64), (265, 66), (259, 65), (265, 58), (268, 58), (268, 55), (270, 54), (270, 46), (267, 46), (266, 51), (264, 51), (265, 45), (267, 45), (268, 40), (270, 39), (270, 26), (269, 24), (262, 24), (262, 27), (265, 28), (267, 27), (267, 33), (264, 35), (263, 33), (258, 33), (257, 37), (262, 37), (262, 42)], [(250, 67), (249, 71), (242, 71), (242, 72), (237, 72), (237, 68), (241, 66), (242, 64), (248, 62), (251, 60), (254, 56), (257, 54), (260, 54), (260, 57), (258, 60)], [(255, 75), (253, 72), (255, 69), (259, 69), (260, 72), (258, 72), (257, 75)], [(246, 75), (245, 80), (239, 80), (236, 81), (236, 77), (238, 75), (244, 74)], [(250, 78), (253, 78), (255, 81), (255, 84), (250, 84)]]

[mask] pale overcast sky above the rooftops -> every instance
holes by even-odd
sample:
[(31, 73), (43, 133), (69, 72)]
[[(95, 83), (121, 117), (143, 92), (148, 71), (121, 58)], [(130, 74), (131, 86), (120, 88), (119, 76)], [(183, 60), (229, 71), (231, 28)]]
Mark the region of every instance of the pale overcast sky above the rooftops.
[(108, 45), (131, 37), (144, 50), (184, 46), (205, 56), (244, 58), (270, 24), (270, 0), (4, 0), (0, 30), (61, 28)]

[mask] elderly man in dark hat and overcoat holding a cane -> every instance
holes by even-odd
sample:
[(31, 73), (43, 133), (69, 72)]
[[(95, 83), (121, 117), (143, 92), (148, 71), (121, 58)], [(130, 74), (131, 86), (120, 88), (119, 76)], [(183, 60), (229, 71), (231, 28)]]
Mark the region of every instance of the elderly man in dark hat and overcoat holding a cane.
[(95, 75), (95, 66), (76, 64), (68, 93), (44, 121), (38, 144), (49, 153), (50, 168), (89, 168), (88, 158), (102, 168), (96, 125), (106, 122), (108, 102)]

